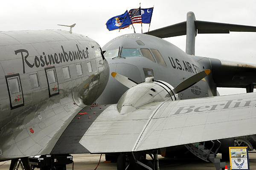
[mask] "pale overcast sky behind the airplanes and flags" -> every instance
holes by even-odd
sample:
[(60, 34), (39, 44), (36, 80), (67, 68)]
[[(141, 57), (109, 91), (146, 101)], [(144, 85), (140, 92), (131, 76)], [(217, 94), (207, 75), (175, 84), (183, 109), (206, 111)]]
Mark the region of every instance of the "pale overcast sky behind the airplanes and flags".
[[(185, 21), (188, 11), (195, 13), (196, 20), (256, 26), (255, 0), (4, 0), (0, 5), (0, 30), (68, 31), (69, 28), (57, 24), (76, 23), (73, 32), (86, 35), (103, 46), (119, 35), (133, 33), (131, 28), (108, 31), (105, 23), (126, 9), (138, 8), (140, 3), (141, 8), (154, 6), (150, 30)], [(141, 33), (140, 24), (135, 29)], [(145, 31), (148, 31), (148, 24), (143, 24)], [(185, 51), (186, 36), (165, 40)], [(198, 34), (195, 54), (256, 64), (256, 33)], [(246, 92), (227, 88), (218, 88), (218, 91), (221, 95)]]

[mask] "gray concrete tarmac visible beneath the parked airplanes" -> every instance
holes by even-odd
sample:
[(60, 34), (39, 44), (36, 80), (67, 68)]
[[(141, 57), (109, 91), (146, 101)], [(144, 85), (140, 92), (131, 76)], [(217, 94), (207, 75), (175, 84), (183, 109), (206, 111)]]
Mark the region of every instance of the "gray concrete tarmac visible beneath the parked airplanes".
[[(99, 162), (100, 154), (73, 154), (74, 170), (94, 170)], [(221, 158), (221, 154), (217, 155)], [(148, 160), (151, 160), (147, 156)], [(102, 155), (97, 170), (116, 170), (116, 163), (105, 163), (105, 155)], [(11, 161), (0, 162), (0, 170), (9, 170)], [(226, 161), (227, 166), (230, 162)], [(256, 151), (249, 152), (250, 170), (256, 170)], [(68, 164), (67, 170), (72, 170), (73, 165)], [(216, 170), (214, 164), (197, 158), (164, 158), (159, 156), (160, 170)], [(21, 170), (19, 168), (18, 170)], [(37, 168), (35, 168), (37, 170)], [(228, 168), (230, 170), (230, 168)]]

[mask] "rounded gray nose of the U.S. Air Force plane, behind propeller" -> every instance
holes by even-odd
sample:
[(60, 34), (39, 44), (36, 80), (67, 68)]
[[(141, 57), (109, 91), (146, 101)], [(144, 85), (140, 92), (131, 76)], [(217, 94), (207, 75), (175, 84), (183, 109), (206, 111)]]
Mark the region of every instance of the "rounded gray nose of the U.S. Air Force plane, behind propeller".
[[(140, 71), (135, 65), (127, 63), (112, 63), (109, 64), (109, 69), (110, 73), (116, 72), (134, 80), (137, 83), (142, 82)], [(128, 88), (126, 86), (122, 85), (110, 76), (105, 90), (96, 102), (99, 105), (115, 104), (127, 90)]]

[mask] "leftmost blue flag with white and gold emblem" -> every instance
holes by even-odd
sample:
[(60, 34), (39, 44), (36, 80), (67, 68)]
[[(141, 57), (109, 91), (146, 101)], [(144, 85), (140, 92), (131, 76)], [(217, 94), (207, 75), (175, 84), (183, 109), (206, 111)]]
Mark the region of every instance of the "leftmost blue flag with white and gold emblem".
[(124, 14), (117, 15), (115, 17), (112, 17), (109, 19), (106, 23), (106, 26), (109, 31), (115, 30), (115, 29), (123, 29), (128, 26), (130, 26), (131, 19), (129, 17), (128, 11), (126, 10)]

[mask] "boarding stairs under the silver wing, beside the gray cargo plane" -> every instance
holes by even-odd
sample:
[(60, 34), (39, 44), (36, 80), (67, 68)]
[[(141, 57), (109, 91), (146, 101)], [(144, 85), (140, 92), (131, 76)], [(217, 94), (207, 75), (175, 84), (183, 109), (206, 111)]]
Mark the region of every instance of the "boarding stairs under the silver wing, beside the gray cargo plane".
[(215, 165), (216, 170), (219, 170), (221, 168), (224, 170), (226, 162), (221, 162), (221, 159), (215, 158), (218, 153), (218, 149), (221, 146), (221, 142), (217, 140), (219, 147), (215, 150), (215, 153), (212, 152), (214, 142), (213, 141), (211, 142), (212, 142), (212, 147), (210, 149), (207, 149), (206, 147), (204, 147), (204, 144), (200, 144), (200, 143), (192, 143), (192, 144), (184, 144), (184, 145), (191, 153), (193, 153), (198, 158), (203, 159), (204, 161), (207, 161), (207, 162), (211, 161)]

